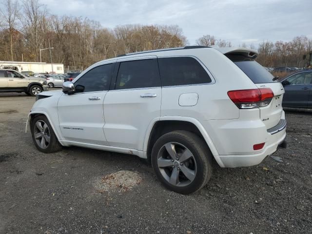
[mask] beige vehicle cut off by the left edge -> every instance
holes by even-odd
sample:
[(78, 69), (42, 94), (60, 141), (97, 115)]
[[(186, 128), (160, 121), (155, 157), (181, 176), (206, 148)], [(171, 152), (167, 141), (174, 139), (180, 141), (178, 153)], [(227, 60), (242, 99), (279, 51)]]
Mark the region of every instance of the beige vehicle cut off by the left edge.
[(25, 92), (27, 95), (36, 96), (48, 86), (46, 80), (35, 77), (25, 77), (12, 69), (0, 69), (0, 92)]

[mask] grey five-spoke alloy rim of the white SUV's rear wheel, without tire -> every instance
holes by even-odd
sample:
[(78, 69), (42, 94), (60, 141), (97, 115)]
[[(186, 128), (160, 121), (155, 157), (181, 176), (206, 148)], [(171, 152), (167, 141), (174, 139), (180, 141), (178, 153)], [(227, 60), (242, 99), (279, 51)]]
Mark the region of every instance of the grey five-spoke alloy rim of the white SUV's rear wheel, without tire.
[(174, 186), (187, 186), (196, 176), (194, 155), (186, 146), (177, 142), (166, 143), (160, 148), (157, 166), (165, 180)]

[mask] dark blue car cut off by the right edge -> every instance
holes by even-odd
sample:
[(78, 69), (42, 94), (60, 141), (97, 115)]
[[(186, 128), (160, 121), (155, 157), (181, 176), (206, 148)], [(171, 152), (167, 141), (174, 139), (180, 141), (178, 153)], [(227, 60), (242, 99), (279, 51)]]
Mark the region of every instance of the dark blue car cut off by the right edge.
[(312, 108), (312, 70), (300, 70), (281, 81), (285, 89), (283, 107)]

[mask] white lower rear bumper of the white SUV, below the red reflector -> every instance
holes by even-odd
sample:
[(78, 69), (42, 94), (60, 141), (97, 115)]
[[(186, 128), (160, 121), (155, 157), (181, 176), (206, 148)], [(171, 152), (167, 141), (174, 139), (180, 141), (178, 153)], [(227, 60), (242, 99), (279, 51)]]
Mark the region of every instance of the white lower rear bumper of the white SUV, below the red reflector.
[(283, 143), (285, 137), (286, 127), (273, 135), (268, 133), (268, 141), (265, 144), (266, 147), (261, 151), (261, 153), (252, 155), (220, 155), (219, 158), (224, 167), (254, 166), (262, 162), (266, 156), (272, 155), (277, 150), (278, 145)]

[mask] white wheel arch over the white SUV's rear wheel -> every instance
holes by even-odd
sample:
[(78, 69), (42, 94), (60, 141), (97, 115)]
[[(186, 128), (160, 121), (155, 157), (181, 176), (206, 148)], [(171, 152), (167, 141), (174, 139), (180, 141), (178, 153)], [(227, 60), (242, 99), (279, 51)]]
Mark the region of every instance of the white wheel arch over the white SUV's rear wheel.
[(195, 133), (197, 136), (202, 138), (208, 145), (211, 153), (215, 157), (216, 162), (220, 167), (224, 167), (222, 161), (218, 156), (218, 152), (212, 142), (209, 134), (200, 122), (192, 117), (160, 117), (155, 119), (149, 126), (145, 136), (143, 150), (147, 152), (147, 160), (151, 161), (151, 151), (156, 140), (171, 131), (175, 130), (186, 130)]

